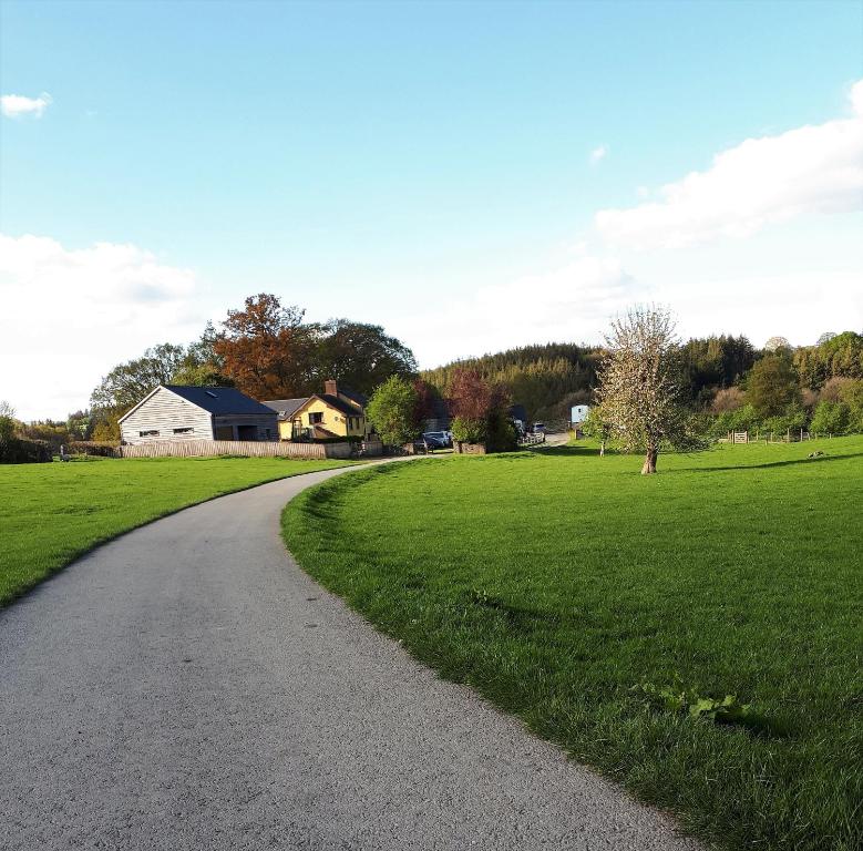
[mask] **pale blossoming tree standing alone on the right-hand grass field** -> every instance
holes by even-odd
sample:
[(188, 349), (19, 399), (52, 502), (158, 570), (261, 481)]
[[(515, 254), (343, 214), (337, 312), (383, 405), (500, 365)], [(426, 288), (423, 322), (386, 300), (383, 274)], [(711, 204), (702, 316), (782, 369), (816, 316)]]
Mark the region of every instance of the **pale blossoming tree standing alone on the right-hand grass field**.
[(612, 322), (599, 369), (603, 417), (627, 451), (641, 450), (643, 474), (656, 472), (662, 443), (695, 447), (679, 402), (679, 348), (671, 315), (636, 307)]

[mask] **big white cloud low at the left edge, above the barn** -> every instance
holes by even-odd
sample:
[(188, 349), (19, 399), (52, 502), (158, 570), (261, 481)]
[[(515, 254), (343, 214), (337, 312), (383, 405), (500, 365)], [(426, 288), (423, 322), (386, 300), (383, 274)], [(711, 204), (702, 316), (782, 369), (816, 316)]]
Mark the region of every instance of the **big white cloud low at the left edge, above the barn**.
[(23, 419), (85, 407), (115, 363), (201, 332), (198, 289), (191, 269), (134, 245), (0, 234), (0, 398)]

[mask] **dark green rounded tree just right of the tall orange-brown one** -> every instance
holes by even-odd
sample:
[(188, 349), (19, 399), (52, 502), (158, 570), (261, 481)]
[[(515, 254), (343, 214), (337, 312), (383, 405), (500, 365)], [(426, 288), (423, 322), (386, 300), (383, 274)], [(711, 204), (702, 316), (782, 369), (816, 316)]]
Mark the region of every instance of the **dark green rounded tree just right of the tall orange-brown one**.
[(332, 319), (320, 331), (314, 362), (317, 386), (335, 378), (369, 394), (391, 376), (417, 375), (413, 352), (379, 325)]

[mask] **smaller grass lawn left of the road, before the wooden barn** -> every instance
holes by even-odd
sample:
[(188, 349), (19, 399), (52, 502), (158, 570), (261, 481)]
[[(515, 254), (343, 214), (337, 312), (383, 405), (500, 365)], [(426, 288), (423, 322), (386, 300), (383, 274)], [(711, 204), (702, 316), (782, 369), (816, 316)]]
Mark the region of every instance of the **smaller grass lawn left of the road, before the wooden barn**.
[(345, 461), (90, 460), (0, 466), (0, 606), (96, 544), (173, 511)]

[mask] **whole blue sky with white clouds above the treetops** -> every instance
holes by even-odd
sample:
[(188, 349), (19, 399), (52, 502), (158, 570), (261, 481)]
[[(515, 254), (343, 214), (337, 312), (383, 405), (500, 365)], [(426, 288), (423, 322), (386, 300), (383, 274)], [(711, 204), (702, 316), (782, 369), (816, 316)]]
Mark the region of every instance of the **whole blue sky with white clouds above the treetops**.
[(863, 330), (863, 0), (0, 0), (0, 399), (245, 297), (420, 366)]

